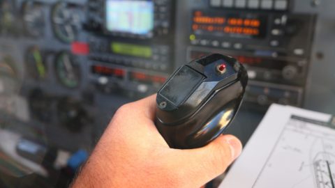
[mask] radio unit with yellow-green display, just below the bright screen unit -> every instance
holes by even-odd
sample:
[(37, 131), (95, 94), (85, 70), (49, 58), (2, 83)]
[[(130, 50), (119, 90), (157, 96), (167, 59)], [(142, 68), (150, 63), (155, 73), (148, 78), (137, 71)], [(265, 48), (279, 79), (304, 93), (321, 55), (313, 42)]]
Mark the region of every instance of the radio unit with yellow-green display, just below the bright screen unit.
[(91, 38), (89, 47), (89, 58), (104, 63), (167, 72), (172, 62), (169, 45)]

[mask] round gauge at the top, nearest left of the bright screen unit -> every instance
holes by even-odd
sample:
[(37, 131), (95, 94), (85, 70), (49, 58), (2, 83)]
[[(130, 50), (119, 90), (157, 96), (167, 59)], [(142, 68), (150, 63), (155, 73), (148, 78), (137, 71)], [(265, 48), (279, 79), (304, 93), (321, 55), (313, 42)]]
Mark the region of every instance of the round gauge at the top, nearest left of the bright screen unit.
[(57, 3), (52, 10), (54, 34), (62, 42), (72, 42), (77, 37), (80, 15), (69, 3)]

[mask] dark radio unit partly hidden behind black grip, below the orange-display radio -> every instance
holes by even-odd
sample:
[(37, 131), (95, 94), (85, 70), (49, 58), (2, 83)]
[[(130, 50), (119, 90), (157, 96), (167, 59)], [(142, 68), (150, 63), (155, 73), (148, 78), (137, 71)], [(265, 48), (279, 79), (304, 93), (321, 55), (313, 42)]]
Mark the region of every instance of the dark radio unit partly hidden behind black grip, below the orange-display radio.
[(206, 56), (211, 53), (230, 54), (248, 70), (250, 80), (267, 81), (275, 84), (301, 86), (305, 84), (307, 61), (298, 57), (255, 56), (248, 52), (206, 47), (188, 47), (188, 60)]

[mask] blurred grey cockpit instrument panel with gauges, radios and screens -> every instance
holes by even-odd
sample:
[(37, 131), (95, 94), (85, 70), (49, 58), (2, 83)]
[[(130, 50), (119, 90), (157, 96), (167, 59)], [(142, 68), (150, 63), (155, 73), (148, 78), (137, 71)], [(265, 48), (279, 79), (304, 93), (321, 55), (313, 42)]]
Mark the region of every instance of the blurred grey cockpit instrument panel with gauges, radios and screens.
[(0, 0), (0, 127), (89, 153), (122, 104), (211, 53), (248, 70), (231, 130), (244, 143), (272, 103), (335, 113), (327, 1)]

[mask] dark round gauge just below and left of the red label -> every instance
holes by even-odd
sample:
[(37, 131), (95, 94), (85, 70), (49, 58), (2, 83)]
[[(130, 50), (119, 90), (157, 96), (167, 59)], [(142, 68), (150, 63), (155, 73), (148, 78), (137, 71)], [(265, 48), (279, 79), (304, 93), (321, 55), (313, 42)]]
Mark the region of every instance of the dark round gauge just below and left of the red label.
[(75, 58), (67, 52), (56, 57), (56, 75), (64, 86), (76, 88), (80, 84), (80, 67)]

